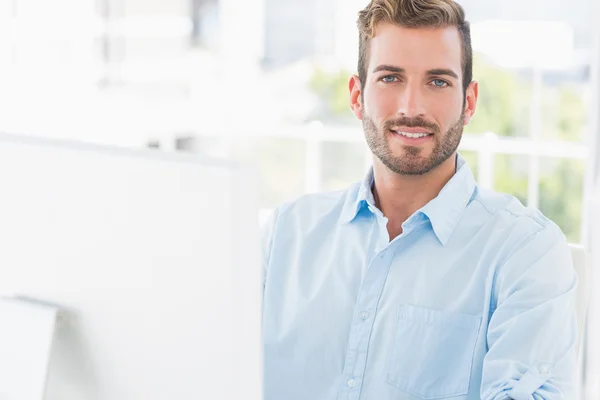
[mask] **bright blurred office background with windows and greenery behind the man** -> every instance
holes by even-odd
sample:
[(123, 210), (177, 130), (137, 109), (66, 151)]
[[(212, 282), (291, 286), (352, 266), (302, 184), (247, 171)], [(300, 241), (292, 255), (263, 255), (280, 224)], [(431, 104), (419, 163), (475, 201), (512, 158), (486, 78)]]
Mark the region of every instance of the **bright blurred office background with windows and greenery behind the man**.
[[(481, 85), (462, 154), (480, 185), (591, 246), (600, 4), (459, 2)], [(347, 95), (366, 3), (0, 0), (0, 131), (249, 161), (265, 212), (341, 189), (370, 162)], [(583, 398), (596, 399), (600, 347), (586, 349)]]

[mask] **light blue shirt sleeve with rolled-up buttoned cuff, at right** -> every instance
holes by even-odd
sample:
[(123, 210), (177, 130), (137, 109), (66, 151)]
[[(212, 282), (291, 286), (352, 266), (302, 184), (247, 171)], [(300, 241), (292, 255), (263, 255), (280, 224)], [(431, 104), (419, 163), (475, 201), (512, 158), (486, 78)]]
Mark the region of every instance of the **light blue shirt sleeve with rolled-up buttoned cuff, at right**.
[(555, 224), (511, 252), (496, 271), (482, 400), (575, 398), (577, 286), (570, 249)]

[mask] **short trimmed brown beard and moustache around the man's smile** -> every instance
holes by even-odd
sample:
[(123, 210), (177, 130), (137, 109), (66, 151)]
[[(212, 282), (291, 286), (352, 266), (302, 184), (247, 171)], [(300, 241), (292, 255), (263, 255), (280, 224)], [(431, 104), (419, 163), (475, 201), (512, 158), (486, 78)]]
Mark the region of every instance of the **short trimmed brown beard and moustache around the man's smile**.
[[(458, 149), (464, 129), (464, 111), (444, 134), (441, 134), (437, 124), (420, 117), (389, 120), (383, 124), (382, 129), (378, 129), (375, 122), (364, 111), (363, 116), (363, 129), (371, 152), (390, 171), (399, 175), (423, 175), (439, 167)], [(434, 144), (431, 154), (429, 156), (423, 154), (427, 150), (426, 147), (409, 145), (402, 146), (403, 154), (394, 154), (390, 147), (389, 136), (394, 135), (390, 129), (395, 126), (428, 129), (433, 133), (431, 139)]]

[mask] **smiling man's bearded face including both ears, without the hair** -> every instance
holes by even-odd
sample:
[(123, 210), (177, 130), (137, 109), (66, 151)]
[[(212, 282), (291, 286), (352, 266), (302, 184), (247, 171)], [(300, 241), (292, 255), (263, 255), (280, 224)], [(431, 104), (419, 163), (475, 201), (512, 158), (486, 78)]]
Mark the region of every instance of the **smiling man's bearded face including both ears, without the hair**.
[(474, 83), (464, 97), (461, 54), (455, 27), (377, 26), (364, 87), (353, 77), (350, 89), (367, 143), (391, 171), (425, 174), (455, 153), (477, 96)]

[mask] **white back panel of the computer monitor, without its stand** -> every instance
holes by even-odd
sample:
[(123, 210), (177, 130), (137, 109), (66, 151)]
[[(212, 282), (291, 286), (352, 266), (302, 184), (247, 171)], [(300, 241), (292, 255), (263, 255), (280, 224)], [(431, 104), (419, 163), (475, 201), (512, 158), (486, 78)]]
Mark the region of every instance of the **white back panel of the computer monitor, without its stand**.
[(66, 311), (44, 400), (262, 399), (246, 167), (2, 134), (0, 191), (0, 294)]

